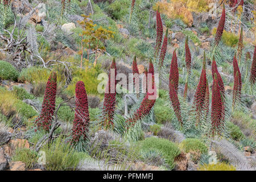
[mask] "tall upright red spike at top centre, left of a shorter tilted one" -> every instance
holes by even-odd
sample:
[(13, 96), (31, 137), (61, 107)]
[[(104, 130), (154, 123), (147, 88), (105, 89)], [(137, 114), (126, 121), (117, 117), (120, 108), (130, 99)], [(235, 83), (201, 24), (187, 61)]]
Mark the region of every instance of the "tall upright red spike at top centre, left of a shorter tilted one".
[(163, 23), (158, 10), (156, 11), (156, 46), (155, 46), (155, 57), (158, 57), (159, 49), (162, 44), (163, 38)]

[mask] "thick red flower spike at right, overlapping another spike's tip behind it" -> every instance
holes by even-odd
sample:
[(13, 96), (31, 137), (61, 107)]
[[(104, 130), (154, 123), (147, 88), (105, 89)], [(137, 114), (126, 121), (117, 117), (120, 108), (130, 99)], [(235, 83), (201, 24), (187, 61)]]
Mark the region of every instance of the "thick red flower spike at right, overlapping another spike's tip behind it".
[(212, 137), (216, 133), (220, 134), (219, 131), (223, 126), (224, 122), (224, 103), (222, 101), (220, 87), (218, 86), (217, 74), (214, 74), (213, 86), (212, 86), (212, 114), (211, 114), (211, 134)]

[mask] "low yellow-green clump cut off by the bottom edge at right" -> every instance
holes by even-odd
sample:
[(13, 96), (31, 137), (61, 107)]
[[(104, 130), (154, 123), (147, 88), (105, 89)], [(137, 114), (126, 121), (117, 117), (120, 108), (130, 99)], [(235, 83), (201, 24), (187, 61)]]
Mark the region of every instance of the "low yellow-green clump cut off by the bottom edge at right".
[(197, 170), (198, 171), (236, 171), (236, 167), (226, 163), (217, 163), (217, 164), (201, 165)]

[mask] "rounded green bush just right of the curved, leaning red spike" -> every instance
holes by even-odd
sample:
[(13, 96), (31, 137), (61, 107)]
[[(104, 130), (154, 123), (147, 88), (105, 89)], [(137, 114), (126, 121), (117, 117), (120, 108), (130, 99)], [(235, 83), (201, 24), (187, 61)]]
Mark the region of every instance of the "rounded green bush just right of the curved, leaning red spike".
[(164, 105), (164, 100), (158, 98), (154, 105), (154, 114), (156, 123), (162, 124), (164, 122), (171, 122), (175, 117), (174, 111), (171, 107)]

